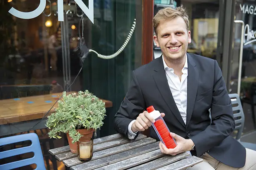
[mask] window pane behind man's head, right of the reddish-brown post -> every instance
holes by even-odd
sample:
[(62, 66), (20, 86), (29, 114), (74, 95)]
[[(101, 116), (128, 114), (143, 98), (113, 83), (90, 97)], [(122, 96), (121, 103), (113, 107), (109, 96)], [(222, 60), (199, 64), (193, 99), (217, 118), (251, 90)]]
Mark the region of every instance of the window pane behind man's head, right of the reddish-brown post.
[[(170, 3), (169, 3), (170, 4)], [(219, 27), (219, 0), (173, 0), (171, 5), (154, 4), (154, 14), (163, 7), (184, 5), (189, 15), (191, 43), (188, 53), (195, 53), (216, 59), (216, 48)], [(154, 44), (154, 58), (161, 56), (161, 49)]]

